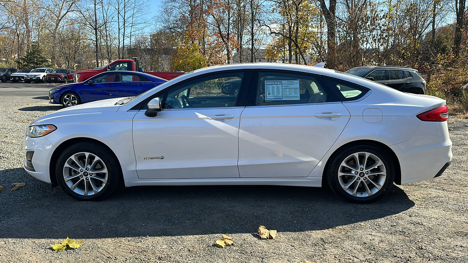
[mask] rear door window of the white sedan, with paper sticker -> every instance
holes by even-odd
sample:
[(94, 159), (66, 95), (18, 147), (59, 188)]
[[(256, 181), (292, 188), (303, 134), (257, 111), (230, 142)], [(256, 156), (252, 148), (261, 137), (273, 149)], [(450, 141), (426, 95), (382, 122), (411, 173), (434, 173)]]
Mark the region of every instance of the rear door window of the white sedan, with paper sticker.
[(258, 76), (256, 106), (327, 102), (327, 93), (312, 76), (261, 72)]

